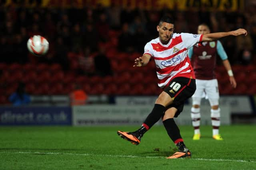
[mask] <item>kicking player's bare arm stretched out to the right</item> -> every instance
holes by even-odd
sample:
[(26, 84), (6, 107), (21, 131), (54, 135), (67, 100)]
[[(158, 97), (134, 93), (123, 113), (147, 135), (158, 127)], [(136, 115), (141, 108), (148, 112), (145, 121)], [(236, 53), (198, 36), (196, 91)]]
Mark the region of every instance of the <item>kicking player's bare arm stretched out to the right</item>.
[(222, 37), (227, 37), (230, 35), (233, 35), (233, 36), (245, 35), (246, 36), (247, 31), (245, 29), (240, 28), (235, 31), (204, 34), (202, 37), (202, 41), (213, 41), (213, 40), (220, 39)]

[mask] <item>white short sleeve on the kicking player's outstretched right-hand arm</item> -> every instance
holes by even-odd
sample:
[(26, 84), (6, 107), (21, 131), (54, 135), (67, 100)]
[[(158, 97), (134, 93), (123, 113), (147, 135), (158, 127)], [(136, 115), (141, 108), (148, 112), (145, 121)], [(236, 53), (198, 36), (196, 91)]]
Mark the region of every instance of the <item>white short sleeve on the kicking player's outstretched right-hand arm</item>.
[(181, 38), (184, 46), (190, 49), (196, 43), (202, 41), (203, 35), (201, 34), (191, 34), (191, 33), (181, 33)]

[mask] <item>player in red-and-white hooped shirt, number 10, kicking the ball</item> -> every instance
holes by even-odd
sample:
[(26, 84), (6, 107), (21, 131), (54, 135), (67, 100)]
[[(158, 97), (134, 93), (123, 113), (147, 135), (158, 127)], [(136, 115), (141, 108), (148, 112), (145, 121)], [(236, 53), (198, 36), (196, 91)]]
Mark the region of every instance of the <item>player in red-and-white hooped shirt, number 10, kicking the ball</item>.
[(134, 66), (145, 66), (151, 58), (154, 59), (158, 86), (163, 92), (156, 99), (154, 108), (138, 130), (117, 133), (123, 139), (138, 145), (144, 133), (162, 118), (170, 139), (178, 147), (178, 152), (167, 158), (191, 157), (191, 152), (186, 148), (180, 129), (173, 119), (182, 112), (185, 100), (196, 90), (195, 74), (188, 58), (188, 49), (201, 41), (214, 41), (230, 35), (247, 35), (247, 31), (237, 29), (204, 35), (174, 33), (174, 21), (169, 16), (162, 17), (156, 29), (159, 37), (145, 45), (143, 56), (135, 59)]

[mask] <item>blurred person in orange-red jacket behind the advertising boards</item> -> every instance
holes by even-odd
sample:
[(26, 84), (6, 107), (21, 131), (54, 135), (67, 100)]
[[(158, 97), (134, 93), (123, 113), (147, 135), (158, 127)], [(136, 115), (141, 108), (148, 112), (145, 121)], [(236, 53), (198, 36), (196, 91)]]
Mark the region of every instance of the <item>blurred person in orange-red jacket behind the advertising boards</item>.
[(70, 93), (70, 105), (85, 105), (87, 98), (88, 96), (86, 95), (84, 90), (82, 90), (81, 86), (76, 84), (75, 90)]

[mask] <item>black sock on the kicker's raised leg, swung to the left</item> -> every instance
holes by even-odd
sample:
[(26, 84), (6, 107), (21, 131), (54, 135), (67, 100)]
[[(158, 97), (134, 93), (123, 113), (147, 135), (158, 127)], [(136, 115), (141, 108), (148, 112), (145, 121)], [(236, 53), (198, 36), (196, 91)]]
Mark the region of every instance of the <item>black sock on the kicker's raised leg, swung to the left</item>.
[(143, 124), (146, 124), (146, 129), (150, 129), (163, 115), (165, 107), (160, 104), (155, 104), (151, 113), (148, 115)]

